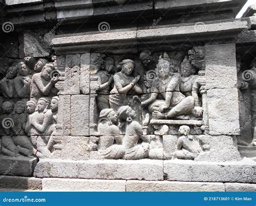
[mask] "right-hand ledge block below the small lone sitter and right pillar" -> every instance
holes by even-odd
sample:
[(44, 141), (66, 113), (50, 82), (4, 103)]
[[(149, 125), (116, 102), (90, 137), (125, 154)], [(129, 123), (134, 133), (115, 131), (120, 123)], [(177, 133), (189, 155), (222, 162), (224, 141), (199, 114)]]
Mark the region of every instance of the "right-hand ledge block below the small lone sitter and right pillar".
[(170, 181), (256, 183), (256, 162), (246, 157), (232, 162), (166, 160), (164, 174)]

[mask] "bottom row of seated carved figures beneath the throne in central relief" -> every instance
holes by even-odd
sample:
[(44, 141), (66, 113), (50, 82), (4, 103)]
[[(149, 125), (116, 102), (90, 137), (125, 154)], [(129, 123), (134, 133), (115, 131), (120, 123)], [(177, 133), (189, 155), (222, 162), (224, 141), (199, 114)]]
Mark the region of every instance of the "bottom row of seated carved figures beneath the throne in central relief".
[[(130, 106), (120, 107), (117, 113), (111, 108), (100, 112), (98, 133), (101, 136), (99, 136), (98, 151), (104, 159), (164, 158), (161, 137), (143, 135), (143, 128), (135, 119), (136, 112)], [(166, 158), (194, 160), (201, 152), (209, 149), (206, 141), (200, 141), (200, 138), (194, 138), (189, 133), (190, 127), (185, 125), (180, 127), (181, 136), (177, 142), (177, 152), (169, 154)], [(202, 139), (205, 139), (205, 135), (202, 136), (204, 136)]]

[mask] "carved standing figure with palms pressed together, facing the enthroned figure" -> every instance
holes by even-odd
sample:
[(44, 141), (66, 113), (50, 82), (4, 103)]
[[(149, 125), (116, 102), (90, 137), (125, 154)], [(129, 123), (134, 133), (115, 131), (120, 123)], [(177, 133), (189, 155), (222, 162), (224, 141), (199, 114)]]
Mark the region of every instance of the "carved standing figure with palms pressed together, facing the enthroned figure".
[[(114, 74), (114, 87), (110, 92), (110, 108), (114, 109), (115, 112), (123, 106), (126, 102), (126, 94), (133, 90), (137, 94), (141, 94), (142, 88), (140, 88), (137, 83), (139, 81), (140, 75), (133, 78), (131, 76), (135, 63), (131, 59), (123, 60), (120, 65), (122, 66), (122, 71)], [(126, 103), (127, 105), (127, 103)]]

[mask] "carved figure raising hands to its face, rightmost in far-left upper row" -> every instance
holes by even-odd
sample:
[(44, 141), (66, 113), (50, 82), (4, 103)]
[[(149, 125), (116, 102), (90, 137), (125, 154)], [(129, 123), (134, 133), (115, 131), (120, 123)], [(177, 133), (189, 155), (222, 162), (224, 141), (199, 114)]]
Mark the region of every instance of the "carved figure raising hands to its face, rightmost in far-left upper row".
[(51, 73), (55, 70), (52, 63), (46, 64), (40, 73), (36, 73), (32, 77), (32, 86), (31, 86), (31, 97), (40, 98), (40, 97), (53, 97), (57, 95), (57, 90), (55, 84), (58, 81), (58, 77), (51, 77)]

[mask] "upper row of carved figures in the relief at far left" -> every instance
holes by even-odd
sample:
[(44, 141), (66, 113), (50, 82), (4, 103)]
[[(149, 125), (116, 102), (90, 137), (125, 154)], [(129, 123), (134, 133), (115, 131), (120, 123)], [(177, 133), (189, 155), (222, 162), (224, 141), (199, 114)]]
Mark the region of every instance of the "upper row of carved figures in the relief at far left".
[(34, 98), (53, 97), (58, 90), (58, 72), (55, 63), (46, 59), (39, 59), (35, 64), (33, 75), (25, 61), (11, 66), (5, 77), (0, 81), (1, 92), (6, 98)]

